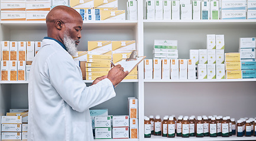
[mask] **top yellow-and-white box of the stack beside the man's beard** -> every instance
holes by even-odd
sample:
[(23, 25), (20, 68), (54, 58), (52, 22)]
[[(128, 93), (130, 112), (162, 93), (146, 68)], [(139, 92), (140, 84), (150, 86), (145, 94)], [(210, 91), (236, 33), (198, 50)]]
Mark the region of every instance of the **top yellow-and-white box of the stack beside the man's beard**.
[(88, 51), (112, 51), (112, 41), (88, 41)]

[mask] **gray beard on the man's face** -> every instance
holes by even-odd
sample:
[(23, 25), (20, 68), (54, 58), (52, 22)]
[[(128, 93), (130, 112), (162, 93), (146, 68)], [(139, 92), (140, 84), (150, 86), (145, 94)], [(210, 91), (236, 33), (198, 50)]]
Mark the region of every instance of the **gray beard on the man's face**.
[(70, 38), (68, 33), (64, 34), (63, 43), (64, 43), (64, 46), (66, 46), (67, 48), (67, 52), (69, 52), (71, 56), (76, 56), (78, 46), (76, 45), (76, 41)]

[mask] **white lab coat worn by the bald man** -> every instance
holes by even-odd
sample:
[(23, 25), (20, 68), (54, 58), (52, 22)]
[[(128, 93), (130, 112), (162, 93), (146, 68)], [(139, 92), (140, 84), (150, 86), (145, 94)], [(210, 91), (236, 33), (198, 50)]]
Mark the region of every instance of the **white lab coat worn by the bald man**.
[(28, 82), (28, 140), (93, 140), (89, 108), (114, 96), (109, 79), (86, 87), (72, 56), (44, 39)]

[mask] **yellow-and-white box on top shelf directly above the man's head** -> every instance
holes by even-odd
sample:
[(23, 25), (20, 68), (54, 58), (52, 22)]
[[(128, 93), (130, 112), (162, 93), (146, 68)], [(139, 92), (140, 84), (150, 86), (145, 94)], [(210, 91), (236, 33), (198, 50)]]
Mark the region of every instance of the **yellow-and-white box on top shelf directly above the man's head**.
[(70, 7), (72, 8), (93, 8), (93, 0), (70, 0)]

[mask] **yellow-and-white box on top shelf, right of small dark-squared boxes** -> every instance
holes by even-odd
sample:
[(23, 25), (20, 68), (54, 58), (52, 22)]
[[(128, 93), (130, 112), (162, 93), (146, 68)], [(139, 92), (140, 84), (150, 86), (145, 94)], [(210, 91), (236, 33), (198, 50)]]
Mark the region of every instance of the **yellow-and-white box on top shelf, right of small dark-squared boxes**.
[(125, 10), (101, 11), (101, 21), (103, 20), (125, 20)]

